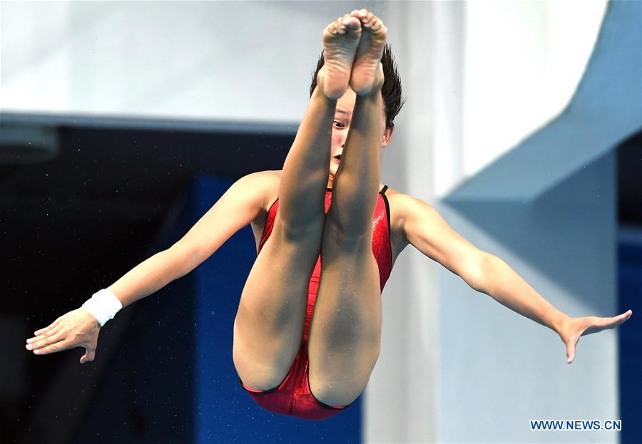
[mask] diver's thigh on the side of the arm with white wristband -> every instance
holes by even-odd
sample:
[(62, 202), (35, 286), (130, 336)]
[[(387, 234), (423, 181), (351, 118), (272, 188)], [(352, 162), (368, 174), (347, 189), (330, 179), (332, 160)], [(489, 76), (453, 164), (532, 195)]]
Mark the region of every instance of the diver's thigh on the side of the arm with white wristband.
[(253, 264), (234, 321), (233, 359), (247, 386), (277, 386), (300, 348), (321, 226), (286, 232), (279, 217)]

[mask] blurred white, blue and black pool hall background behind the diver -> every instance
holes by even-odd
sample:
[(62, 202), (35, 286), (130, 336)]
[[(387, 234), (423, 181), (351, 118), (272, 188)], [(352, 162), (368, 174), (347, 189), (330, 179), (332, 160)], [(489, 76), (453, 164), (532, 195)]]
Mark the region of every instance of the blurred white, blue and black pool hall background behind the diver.
[[(249, 227), (83, 349), (24, 341), (169, 247), (238, 177), (282, 167), (321, 31), (382, 17), (407, 102), (382, 183), (571, 316), (554, 332), (408, 248), (347, 411), (273, 415), (238, 385)], [(1, 1), (1, 443), (642, 442), (639, 1)], [(215, 227), (213, 227), (215, 229)], [(412, 251), (411, 251), (412, 250)], [(529, 420), (621, 420), (532, 431)]]

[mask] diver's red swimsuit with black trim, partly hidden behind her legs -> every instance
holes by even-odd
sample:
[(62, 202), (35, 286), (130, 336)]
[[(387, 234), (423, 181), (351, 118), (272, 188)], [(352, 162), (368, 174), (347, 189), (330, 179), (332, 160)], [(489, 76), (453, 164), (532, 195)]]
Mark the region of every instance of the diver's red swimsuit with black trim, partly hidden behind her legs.
[[(390, 246), (390, 210), (388, 200), (385, 195), (387, 185), (379, 192), (377, 199), (377, 206), (374, 207), (374, 214), (372, 216), (372, 253), (377, 264), (379, 265), (379, 284), (383, 290), (384, 285), (390, 276), (392, 270), (392, 248)], [(325, 212), (330, 208), (332, 202), (332, 190), (328, 189), (325, 192)], [(272, 233), (272, 226), (279, 207), (278, 199), (270, 207), (267, 213), (267, 220), (265, 221), (265, 228), (263, 229), (263, 236), (259, 244), (259, 253), (263, 248), (265, 241)], [(303, 339), (299, 353), (295, 357), (290, 372), (287, 373), (285, 379), (279, 386), (266, 391), (255, 390), (245, 386), (243, 381), (240, 380), (240, 385), (245, 388), (250, 396), (261, 407), (273, 413), (282, 413), (285, 415), (299, 416), (309, 420), (320, 420), (330, 418), (336, 415), (344, 407), (327, 406), (326, 404), (317, 401), (310, 392), (310, 383), (307, 378), (307, 334), (310, 329), (310, 319), (312, 316), (312, 309), (315, 306), (315, 299), (317, 297), (317, 290), (319, 288), (319, 278), (321, 274), (321, 256), (317, 259), (317, 264), (310, 277), (310, 288), (307, 296), (307, 314), (305, 316), (305, 324), (303, 326)]]

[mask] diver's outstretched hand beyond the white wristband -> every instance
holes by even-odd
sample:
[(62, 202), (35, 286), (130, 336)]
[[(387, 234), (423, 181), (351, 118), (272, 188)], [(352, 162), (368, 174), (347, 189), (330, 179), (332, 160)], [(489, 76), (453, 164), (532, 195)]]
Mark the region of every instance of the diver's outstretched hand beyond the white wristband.
[(34, 332), (36, 336), (26, 340), (26, 349), (33, 350), (37, 355), (46, 355), (82, 346), (85, 354), (80, 362), (86, 363), (96, 358), (100, 330), (96, 318), (81, 307), (63, 314), (51, 325)]

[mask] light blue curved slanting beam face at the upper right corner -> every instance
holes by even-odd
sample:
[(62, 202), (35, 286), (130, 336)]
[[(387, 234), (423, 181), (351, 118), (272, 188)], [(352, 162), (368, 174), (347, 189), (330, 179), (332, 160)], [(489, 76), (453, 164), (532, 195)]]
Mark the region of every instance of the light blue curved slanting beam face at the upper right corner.
[(598, 41), (566, 109), (457, 187), (445, 202), (533, 200), (640, 130), (641, 29), (641, 1), (609, 1)]

